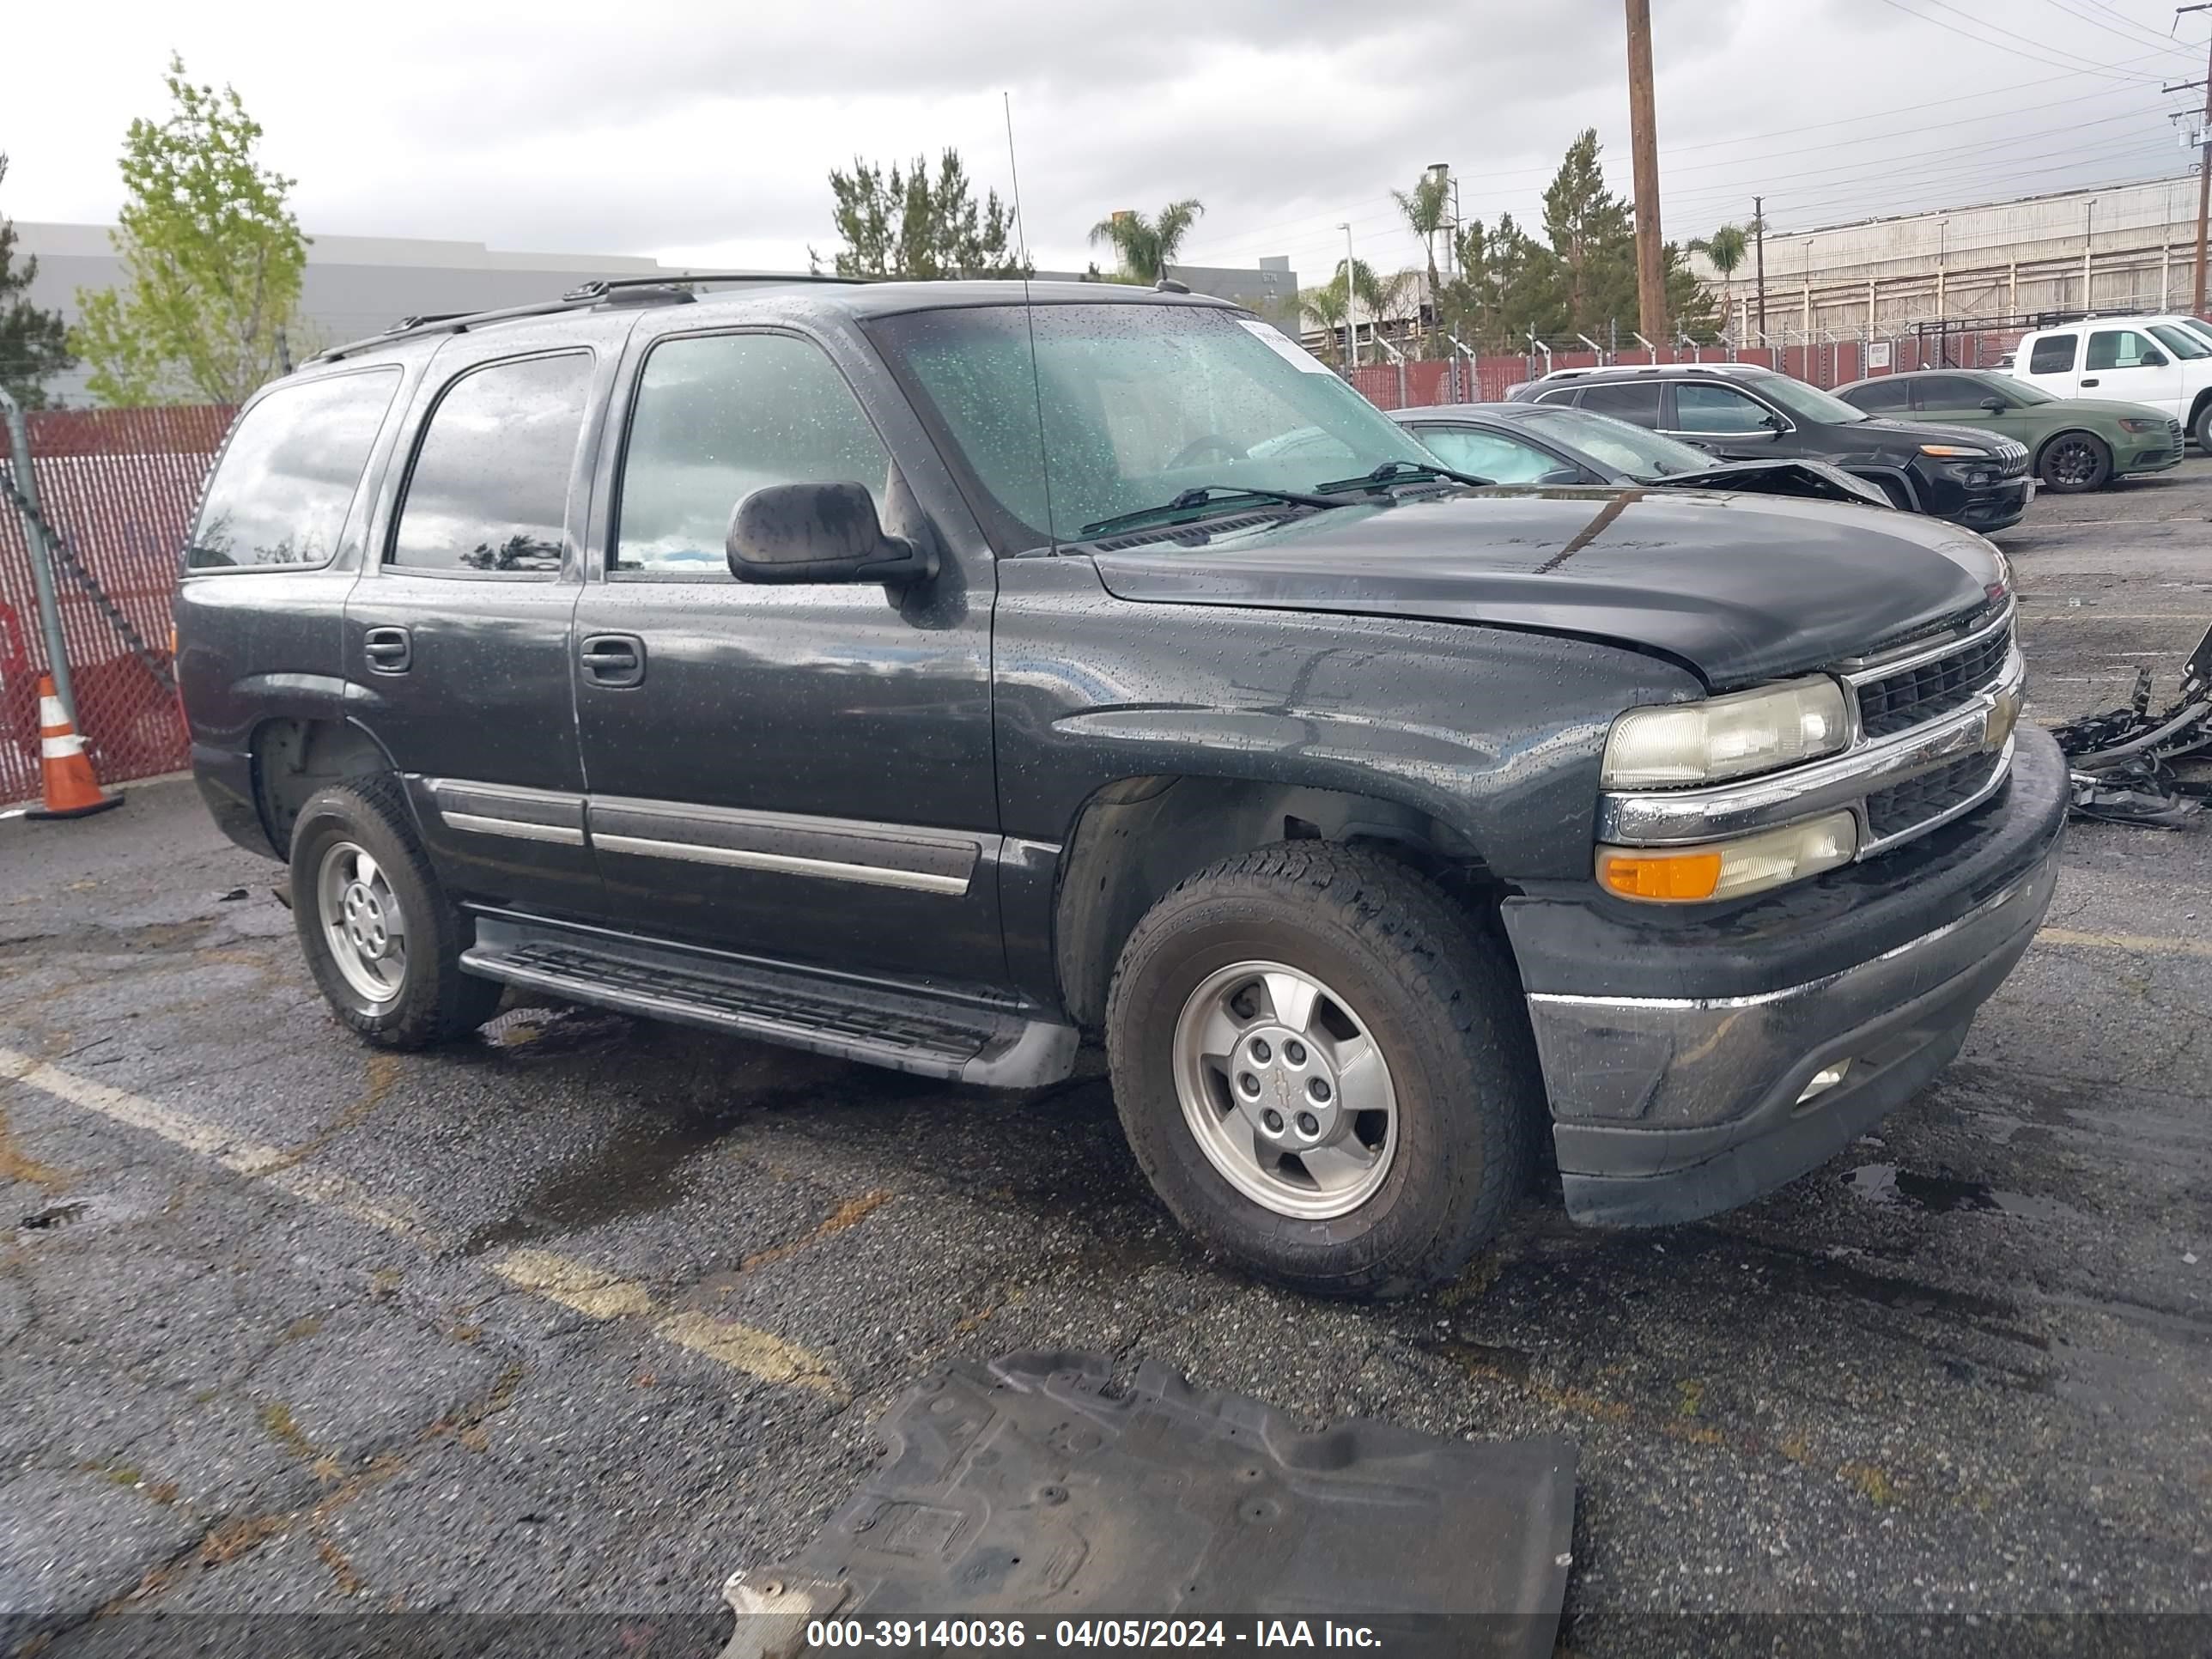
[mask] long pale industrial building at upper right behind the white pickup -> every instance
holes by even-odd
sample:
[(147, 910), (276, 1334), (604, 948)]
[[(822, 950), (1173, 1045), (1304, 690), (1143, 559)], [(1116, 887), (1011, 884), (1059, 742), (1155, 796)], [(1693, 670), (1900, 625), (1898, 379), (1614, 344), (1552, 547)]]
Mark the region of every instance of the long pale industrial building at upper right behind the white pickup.
[[(2185, 310), (2197, 270), (2197, 175), (1969, 208), (1767, 232), (1767, 338), (1863, 338), (1913, 323), (2039, 312)], [(1723, 281), (1732, 334), (1754, 341), (1754, 254)]]

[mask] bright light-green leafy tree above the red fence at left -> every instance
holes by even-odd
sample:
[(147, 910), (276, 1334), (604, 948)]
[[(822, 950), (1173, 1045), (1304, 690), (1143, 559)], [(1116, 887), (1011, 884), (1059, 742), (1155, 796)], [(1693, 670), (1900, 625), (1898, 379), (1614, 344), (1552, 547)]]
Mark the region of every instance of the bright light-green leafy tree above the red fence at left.
[(111, 237), (124, 285), (77, 290), (69, 345), (102, 403), (241, 403), (283, 369), (299, 307), (296, 179), (261, 166), (261, 124), (237, 91), (195, 86), (175, 53), (164, 84), (168, 119), (135, 119), (124, 137)]

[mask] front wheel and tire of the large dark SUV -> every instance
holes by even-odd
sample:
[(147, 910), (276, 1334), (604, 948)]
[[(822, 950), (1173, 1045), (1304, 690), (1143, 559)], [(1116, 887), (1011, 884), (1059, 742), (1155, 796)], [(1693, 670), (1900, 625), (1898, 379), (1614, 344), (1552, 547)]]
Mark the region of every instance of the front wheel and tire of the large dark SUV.
[(1281, 843), (1161, 898), (1106, 1011), (1121, 1128), (1161, 1201), (1325, 1296), (1453, 1279), (1528, 1179), (1520, 987), (1433, 883)]

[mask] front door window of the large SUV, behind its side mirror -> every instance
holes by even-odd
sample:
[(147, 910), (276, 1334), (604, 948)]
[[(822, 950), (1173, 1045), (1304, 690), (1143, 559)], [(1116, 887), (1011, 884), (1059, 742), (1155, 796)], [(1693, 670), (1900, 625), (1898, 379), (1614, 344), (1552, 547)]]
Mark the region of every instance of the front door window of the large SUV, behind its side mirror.
[(830, 356), (792, 334), (661, 341), (637, 380), (608, 573), (732, 582), (730, 513), (768, 484), (863, 484), (891, 458)]

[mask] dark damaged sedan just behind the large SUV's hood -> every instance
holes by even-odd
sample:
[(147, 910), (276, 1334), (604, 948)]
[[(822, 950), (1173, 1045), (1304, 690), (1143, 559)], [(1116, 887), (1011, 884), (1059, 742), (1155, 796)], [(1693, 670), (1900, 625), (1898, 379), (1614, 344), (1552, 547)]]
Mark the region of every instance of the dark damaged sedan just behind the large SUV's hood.
[(1747, 489), (1889, 504), (1874, 484), (1825, 460), (1714, 460), (1657, 431), (1555, 403), (1447, 403), (1394, 409), (1391, 420), (1411, 427), (1447, 467), (1500, 484)]

